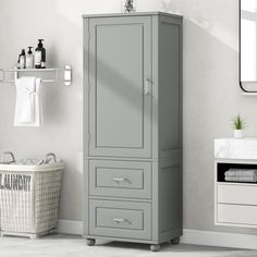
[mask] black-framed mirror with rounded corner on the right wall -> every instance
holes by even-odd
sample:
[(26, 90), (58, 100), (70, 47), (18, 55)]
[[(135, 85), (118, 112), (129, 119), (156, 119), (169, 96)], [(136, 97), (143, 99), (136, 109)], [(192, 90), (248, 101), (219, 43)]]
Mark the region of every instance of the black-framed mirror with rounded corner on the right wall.
[(257, 93), (257, 0), (240, 0), (240, 86)]

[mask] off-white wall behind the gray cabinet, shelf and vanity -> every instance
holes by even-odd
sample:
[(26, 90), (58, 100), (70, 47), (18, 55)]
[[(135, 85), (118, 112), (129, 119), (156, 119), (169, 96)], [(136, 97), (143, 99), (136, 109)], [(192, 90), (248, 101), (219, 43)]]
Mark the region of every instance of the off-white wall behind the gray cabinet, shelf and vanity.
[[(54, 151), (66, 163), (62, 219), (81, 219), (82, 14), (119, 12), (120, 0), (1, 0), (0, 66), (15, 63), (21, 48), (46, 39), (48, 64), (73, 66), (72, 87), (44, 87), (45, 124), (13, 127), (15, 91), (0, 87), (0, 152), (20, 157)], [(247, 119), (257, 134), (257, 98), (238, 90), (238, 10), (235, 0), (137, 0), (138, 11), (184, 15), (184, 228), (256, 233), (213, 225), (213, 139), (232, 136), (230, 120)]]

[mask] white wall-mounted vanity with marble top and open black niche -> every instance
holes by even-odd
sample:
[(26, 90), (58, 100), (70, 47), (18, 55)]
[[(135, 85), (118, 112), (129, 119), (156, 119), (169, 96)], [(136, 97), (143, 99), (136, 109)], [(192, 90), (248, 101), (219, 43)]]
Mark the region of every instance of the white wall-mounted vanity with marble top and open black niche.
[(215, 140), (215, 224), (257, 228), (257, 183), (225, 182), (229, 169), (257, 169), (257, 138)]

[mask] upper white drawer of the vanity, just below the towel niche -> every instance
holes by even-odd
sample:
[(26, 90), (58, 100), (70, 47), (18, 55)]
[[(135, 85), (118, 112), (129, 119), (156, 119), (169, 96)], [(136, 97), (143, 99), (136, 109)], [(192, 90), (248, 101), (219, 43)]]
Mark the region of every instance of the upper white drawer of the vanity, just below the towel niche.
[(218, 185), (218, 203), (257, 205), (257, 185)]

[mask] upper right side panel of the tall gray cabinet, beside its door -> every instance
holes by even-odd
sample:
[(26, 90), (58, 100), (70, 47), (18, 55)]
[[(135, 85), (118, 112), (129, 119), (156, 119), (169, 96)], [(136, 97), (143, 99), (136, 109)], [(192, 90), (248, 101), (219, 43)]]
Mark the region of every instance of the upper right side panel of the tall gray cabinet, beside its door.
[(166, 158), (182, 147), (181, 23), (161, 16), (159, 27), (159, 157)]

